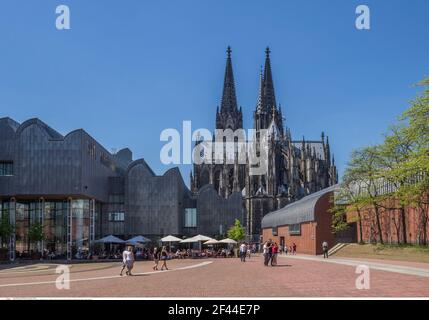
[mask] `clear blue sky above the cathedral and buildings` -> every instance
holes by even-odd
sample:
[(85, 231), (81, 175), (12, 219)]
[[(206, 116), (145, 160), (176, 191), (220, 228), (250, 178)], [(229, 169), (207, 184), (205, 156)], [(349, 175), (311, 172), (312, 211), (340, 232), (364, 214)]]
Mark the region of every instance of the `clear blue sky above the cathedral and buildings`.
[[(61, 4), (71, 30), (55, 28)], [(371, 9), (369, 31), (355, 28), (359, 4)], [(0, 117), (84, 128), (162, 174), (163, 129), (213, 129), (228, 45), (251, 127), (269, 45), (286, 125), (295, 139), (325, 131), (342, 173), (429, 75), (428, 12), (426, 0), (2, 0)], [(188, 183), (190, 166), (180, 169)]]

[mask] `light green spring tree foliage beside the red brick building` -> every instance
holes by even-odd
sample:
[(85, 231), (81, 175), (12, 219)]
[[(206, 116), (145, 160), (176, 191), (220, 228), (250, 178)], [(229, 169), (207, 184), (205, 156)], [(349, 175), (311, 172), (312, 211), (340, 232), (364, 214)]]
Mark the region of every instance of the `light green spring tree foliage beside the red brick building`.
[[(429, 78), (419, 85), (425, 88), (423, 94), (411, 101), (398, 123), (389, 128), (383, 143), (352, 153), (341, 188), (343, 203), (348, 206), (346, 209), (336, 206), (332, 210), (334, 230), (343, 227), (344, 211), (370, 212), (369, 221), (376, 222), (381, 231), (380, 210), (393, 212), (406, 206), (428, 205)], [(387, 192), (382, 188), (386, 184), (391, 186)], [(424, 210), (421, 212), (424, 214)], [(427, 224), (427, 219), (421, 221)], [(405, 225), (402, 221), (403, 228)], [(403, 235), (406, 242), (405, 230)], [(380, 242), (383, 242), (381, 235)]]

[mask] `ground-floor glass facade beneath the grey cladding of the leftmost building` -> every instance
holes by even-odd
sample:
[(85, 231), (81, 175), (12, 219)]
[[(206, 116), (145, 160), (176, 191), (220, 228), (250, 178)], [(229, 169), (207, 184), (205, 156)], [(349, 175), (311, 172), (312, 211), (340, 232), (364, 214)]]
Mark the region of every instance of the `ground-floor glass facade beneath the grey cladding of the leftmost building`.
[[(17, 258), (34, 259), (34, 253), (43, 252), (51, 258), (66, 259), (70, 238), (69, 257), (84, 259), (91, 250), (91, 240), (101, 234), (101, 203), (92, 200), (0, 200), (0, 217), (9, 217), (12, 206), (15, 206)], [(34, 234), (40, 234), (37, 231), (40, 229), (43, 237), (36, 241)]]

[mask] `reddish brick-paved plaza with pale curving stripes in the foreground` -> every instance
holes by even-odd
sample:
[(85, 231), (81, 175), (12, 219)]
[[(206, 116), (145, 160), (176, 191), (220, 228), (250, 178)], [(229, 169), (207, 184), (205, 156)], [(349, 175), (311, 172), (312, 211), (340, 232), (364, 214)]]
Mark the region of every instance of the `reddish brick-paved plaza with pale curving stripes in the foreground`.
[[(429, 297), (429, 264), (280, 256), (266, 267), (262, 256), (169, 261), (153, 271), (139, 261), (134, 276), (120, 276), (120, 262), (70, 267), (70, 289), (58, 290), (55, 264), (0, 266), (0, 297)], [(370, 289), (357, 289), (356, 266), (370, 269)]]

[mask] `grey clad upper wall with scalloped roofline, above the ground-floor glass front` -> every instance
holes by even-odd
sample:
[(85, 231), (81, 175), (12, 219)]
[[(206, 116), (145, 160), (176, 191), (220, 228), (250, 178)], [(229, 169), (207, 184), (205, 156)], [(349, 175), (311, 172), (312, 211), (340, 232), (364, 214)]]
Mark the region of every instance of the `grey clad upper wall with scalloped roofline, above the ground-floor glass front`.
[(12, 160), (12, 177), (0, 177), (2, 196), (88, 197), (108, 200), (108, 178), (118, 175), (112, 155), (83, 130), (63, 137), (38, 119), (13, 128), (0, 121), (0, 160)]

